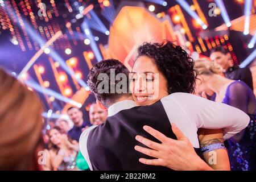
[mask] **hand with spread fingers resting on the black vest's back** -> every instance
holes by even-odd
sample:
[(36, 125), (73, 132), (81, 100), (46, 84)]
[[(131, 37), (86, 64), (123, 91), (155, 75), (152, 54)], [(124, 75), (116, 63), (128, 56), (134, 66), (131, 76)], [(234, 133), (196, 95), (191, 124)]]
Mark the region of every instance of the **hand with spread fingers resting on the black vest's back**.
[(156, 143), (142, 136), (137, 135), (136, 140), (149, 148), (135, 146), (135, 150), (142, 152), (156, 159), (139, 159), (139, 162), (153, 166), (164, 166), (174, 170), (212, 170), (195, 152), (189, 139), (172, 124), (172, 131), (177, 140), (166, 137), (150, 126), (143, 129), (162, 143)]

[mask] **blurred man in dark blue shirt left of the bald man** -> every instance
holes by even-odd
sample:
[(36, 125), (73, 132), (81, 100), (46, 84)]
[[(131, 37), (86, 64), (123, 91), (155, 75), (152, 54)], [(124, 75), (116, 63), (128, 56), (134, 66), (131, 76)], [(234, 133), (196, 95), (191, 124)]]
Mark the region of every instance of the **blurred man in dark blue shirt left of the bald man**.
[(86, 128), (86, 123), (82, 118), (82, 111), (78, 107), (69, 107), (68, 108), (68, 116), (74, 123), (74, 126), (71, 130), (68, 131), (68, 136), (79, 142), (80, 135), (82, 131)]

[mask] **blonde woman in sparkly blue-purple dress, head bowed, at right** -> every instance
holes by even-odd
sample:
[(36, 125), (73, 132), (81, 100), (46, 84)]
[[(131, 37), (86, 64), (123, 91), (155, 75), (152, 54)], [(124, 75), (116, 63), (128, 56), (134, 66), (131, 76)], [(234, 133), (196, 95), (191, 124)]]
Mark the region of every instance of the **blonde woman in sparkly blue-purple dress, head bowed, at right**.
[(256, 102), (253, 90), (240, 80), (230, 80), (221, 76), (220, 65), (211, 61), (197, 60), (195, 69), (199, 72), (196, 83), (197, 93), (206, 93), (212, 96), (213, 101), (237, 107), (250, 116), (251, 121), (246, 129), (226, 140), (225, 146), (228, 148), (231, 170), (255, 170)]

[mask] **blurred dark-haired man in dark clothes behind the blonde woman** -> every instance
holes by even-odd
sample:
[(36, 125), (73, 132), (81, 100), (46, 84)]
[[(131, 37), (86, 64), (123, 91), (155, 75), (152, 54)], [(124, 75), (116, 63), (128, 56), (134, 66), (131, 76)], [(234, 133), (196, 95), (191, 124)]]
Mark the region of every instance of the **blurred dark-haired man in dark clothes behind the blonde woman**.
[(220, 64), (226, 78), (231, 80), (241, 80), (253, 90), (253, 78), (249, 68), (240, 68), (234, 65), (232, 56), (224, 49), (217, 47), (210, 52), (210, 60)]

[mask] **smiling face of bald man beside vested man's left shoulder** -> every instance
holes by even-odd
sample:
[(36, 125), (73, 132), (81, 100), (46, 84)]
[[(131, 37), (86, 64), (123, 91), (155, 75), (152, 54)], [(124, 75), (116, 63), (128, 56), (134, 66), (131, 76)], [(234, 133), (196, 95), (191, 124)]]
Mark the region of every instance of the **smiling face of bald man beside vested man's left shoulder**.
[(106, 118), (108, 118), (108, 111), (106, 109), (101, 109), (97, 104), (92, 104), (89, 110), (89, 117), (92, 125), (100, 125), (106, 121)]

